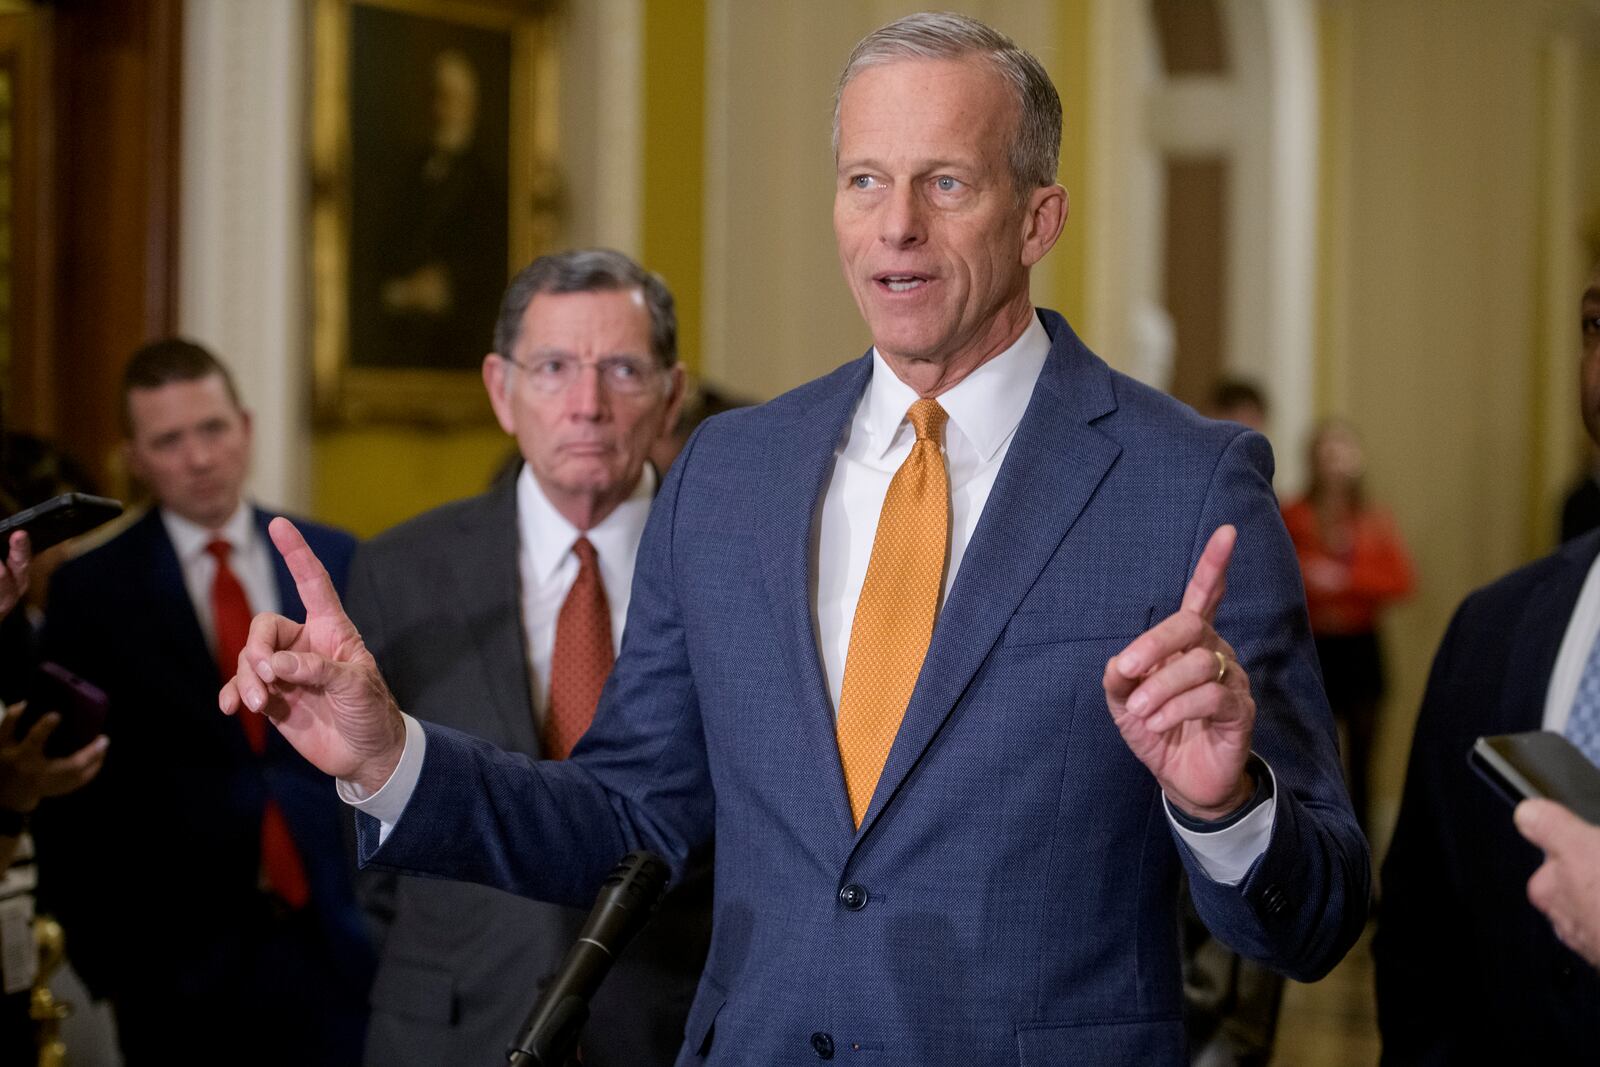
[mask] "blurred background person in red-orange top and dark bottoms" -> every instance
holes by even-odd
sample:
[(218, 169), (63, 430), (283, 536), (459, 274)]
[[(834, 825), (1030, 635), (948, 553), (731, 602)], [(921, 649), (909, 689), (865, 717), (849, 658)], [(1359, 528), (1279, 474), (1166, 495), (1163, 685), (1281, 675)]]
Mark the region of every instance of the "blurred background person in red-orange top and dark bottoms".
[(1378, 707), (1384, 697), (1381, 611), (1411, 595), (1411, 557), (1394, 520), (1366, 499), (1362, 440), (1339, 419), (1310, 437), (1310, 488), (1283, 509), (1294, 539), (1323, 685), (1344, 728), (1350, 805), (1371, 832), (1368, 785)]

